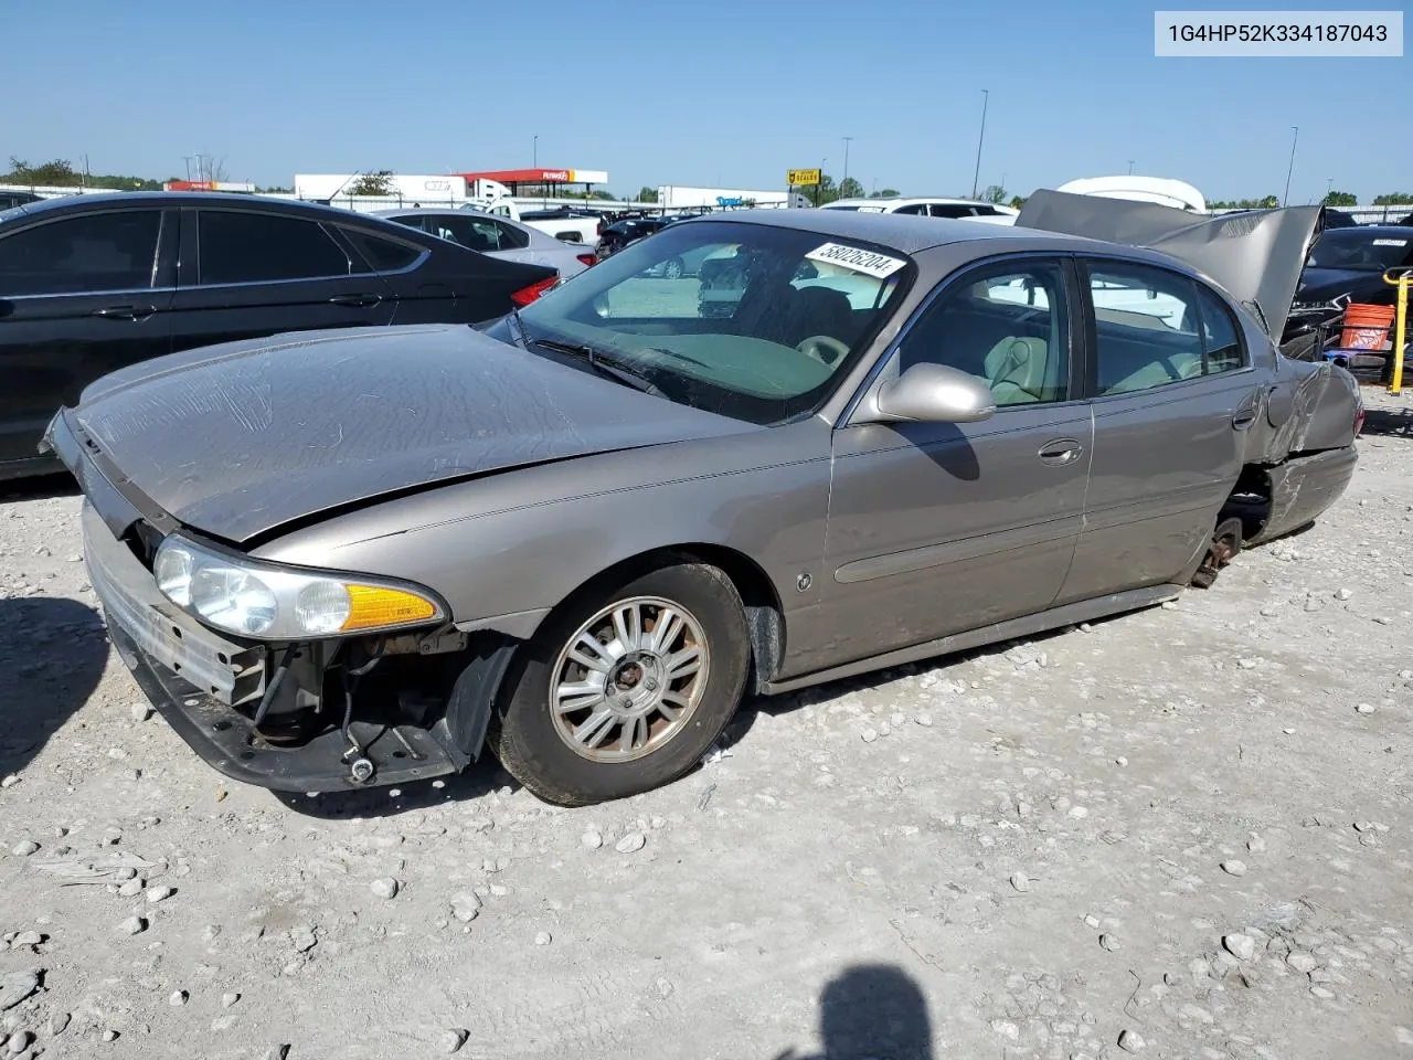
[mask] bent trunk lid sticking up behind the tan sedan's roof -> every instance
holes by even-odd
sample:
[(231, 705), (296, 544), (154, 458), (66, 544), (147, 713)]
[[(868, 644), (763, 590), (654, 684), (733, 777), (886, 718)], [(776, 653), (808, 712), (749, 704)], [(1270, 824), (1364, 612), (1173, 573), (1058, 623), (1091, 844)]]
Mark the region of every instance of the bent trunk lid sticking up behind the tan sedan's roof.
[(1161, 250), (1207, 273), (1242, 304), (1256, 305), (1267, 334), (1279, 339), (1320, 232), (1321, 208), (1194, 215), (1153, 202), (1041, 189), (1026, 199), (1016, 225)]

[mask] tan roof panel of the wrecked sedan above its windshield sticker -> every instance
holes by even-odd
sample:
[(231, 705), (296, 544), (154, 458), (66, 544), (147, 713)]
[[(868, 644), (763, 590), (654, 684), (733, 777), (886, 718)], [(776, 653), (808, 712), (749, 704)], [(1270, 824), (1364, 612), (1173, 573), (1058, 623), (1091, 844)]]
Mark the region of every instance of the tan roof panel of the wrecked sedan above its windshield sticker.
[(678, 225), (736, 222), (818, 232), (821, 236), (856, 239), (916, 254), (947, 243), (981, 240), (1044, 240), (1047, 245), (1094, 246), (1094, 240), (1058, 236), (1012, 225), (979, 225), (965, 218), (924, 218), (914, 213), (856, 213), (848, 209), (747, 209), (680, 220)]

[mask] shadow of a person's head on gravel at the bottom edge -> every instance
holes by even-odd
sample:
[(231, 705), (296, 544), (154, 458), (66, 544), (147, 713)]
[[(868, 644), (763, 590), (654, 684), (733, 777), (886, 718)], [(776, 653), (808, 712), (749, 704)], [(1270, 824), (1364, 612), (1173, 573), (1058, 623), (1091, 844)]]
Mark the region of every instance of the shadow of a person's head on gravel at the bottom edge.
[(787, 1049), (771, 1060), (931, 1060), (927, 999), (911, 975), (890, 964), (845, 968), (820, 998), (824, 1052)]

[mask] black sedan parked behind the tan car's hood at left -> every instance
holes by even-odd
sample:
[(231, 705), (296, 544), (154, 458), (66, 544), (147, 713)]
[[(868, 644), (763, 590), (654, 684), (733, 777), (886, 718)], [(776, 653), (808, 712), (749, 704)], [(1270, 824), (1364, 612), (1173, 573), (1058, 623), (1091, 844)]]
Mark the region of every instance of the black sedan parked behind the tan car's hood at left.
[(249, 195), (75, 195), (3, 211), (0, 479), (58, 471), (37, 451), (45, 424), (124, 365), (291, 331), (478, 324), (557, 278), (390, 220)]

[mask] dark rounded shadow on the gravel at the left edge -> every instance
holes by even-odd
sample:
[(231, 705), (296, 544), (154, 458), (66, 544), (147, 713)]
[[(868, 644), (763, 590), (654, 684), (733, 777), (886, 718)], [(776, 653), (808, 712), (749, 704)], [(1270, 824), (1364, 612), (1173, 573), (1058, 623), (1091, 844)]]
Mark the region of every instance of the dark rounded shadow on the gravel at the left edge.
[(97, 613), (73, 599), (0, 599), (0, 775), (18, 773), (88, 701), (107, 663)]

